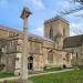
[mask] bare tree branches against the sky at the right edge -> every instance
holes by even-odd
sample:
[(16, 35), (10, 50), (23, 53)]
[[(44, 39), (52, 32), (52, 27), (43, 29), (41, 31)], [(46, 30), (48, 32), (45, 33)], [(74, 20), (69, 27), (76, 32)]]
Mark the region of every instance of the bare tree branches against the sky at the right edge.
[[(74, 17), (80, 17), (82, 18), (83, 17), (83, 13), (77, 13), (77, 14), (74, 14), (81, 10), (83, 10), (83, 0), (66, 0), (69, 1), (70, 4), (73, 4), (74, 8), (69, 8), (69, 9), (63, 9), (63, 10), (60, 10), (60, 14), (61, 15), (69, 15), (69, 14), (73, 14)], [(77, 4), (76, 4), (77, 3)], [(74, 28), (74, 27), (71, 27), (71, 30), (73, 33), (75, 34), (83, 34), (83, 31), (80, 29), (80, 28)]]

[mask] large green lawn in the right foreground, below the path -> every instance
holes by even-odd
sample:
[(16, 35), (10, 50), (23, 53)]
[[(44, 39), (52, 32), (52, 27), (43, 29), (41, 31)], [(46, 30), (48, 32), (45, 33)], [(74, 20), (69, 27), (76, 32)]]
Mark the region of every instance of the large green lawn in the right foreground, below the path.
[(33, 83), (83, 83), (83, 70), (30, 77)]

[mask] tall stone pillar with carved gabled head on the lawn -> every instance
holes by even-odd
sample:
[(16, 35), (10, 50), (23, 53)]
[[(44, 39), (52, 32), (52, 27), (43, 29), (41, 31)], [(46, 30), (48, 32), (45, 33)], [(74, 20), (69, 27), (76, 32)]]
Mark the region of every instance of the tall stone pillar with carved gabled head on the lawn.
[(21, 14), (23, 19), (23, 44), (22, 44), (22, 56), (21, 56), (21, 80), (28, 80), (28, 19), (31, 12), (28, 8), (24, 8)]

